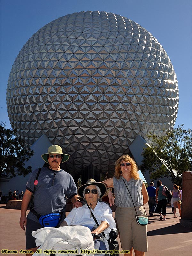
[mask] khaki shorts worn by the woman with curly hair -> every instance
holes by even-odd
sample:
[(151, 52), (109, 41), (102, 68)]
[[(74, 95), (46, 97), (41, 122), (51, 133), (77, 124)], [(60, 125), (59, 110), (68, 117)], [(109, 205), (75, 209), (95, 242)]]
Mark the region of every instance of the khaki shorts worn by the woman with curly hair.
[[(145, 215), (143, 206), (135, 208), (138, 215)], [(137, 224), (135, 208), (116, 208), (115, 220), (119, 231), (121, 248), (130, 251), (133, 247), (133, 249), (140, 252), (148, 252), (147, 226)]]

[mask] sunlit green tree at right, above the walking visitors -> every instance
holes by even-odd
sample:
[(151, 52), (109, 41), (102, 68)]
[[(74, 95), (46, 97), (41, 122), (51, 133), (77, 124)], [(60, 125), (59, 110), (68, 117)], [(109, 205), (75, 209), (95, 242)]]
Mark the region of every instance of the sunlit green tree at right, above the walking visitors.
[(180, 185), (182, 173), (192, 171), (192, 131), (178, 125), (165, 135), (148, 135), (150, 146), (143, 149), (142, 172), (148, 170), (151, 179), (170, 177), (172, 182)]

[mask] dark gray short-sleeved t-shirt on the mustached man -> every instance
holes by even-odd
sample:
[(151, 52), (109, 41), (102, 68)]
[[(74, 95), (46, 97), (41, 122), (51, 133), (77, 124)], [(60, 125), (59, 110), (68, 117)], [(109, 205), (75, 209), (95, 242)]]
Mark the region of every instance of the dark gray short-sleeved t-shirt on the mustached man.
[[(26, 184), (26, 189), (30, 192), (33, 192), (37, 172), (38, 169), (31, 173)], [(67, 198), (70, 199), (75, 195), (77, 195), (77, 187), (69, 173), (64, 170), (53, 171), (43, 167), (36, 185), (33, 209), (40, 215), (63, 212), (66, 209)], [(39, 222), (32, 212), (28, 213), (28, 218)]]

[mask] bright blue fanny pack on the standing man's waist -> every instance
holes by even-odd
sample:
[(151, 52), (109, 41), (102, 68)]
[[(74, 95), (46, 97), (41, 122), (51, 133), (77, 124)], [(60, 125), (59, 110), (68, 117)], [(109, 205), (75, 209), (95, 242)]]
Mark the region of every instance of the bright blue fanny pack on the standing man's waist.
[(57, 227), (61, 220), (60, 213), (49, 213), (39, 218), (39, 223), (44, 227)]

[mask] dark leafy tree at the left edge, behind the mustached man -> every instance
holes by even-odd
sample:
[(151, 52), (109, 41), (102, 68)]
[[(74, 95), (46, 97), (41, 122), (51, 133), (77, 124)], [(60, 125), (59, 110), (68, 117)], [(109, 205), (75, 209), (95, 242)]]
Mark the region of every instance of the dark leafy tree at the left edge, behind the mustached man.
[(0, 124), (0, 176), (12, 178), (16, 175), (26, 176), (32, 172), (31, 166), (24, 167), (24, 162), (28, 161), (34, 152), (25, 149), (25, 142), (17, 138), (17, 131), (6, 129), (6, 124)]

